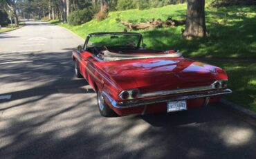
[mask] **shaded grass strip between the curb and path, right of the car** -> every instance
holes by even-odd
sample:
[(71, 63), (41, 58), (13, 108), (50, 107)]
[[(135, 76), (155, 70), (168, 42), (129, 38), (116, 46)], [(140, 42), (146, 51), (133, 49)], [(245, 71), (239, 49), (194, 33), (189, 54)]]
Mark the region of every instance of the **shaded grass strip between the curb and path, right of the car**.
[(226, 100), (256, 112), (256, 64), (214, 62), (228, 73), (228, 87), (232, 93), (225, 95)]

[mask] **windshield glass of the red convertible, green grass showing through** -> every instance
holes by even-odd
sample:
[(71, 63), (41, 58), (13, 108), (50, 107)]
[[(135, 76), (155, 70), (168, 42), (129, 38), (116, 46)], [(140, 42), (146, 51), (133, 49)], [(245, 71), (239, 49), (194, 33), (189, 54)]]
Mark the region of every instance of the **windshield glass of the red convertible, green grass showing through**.
[(98, 35), (90, 37), (87, 47), (93, 46), (122, 46), (137, 47), (140, 42), (139, 35)]

